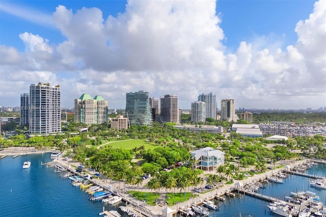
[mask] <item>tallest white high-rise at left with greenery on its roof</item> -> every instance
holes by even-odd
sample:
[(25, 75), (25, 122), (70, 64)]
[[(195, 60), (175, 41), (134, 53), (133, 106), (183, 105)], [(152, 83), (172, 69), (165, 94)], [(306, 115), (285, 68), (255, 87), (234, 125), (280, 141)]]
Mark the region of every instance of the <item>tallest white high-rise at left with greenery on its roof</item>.
[(61, 88), (49, 84), (30, 86), (30, 133), (61, 132)]

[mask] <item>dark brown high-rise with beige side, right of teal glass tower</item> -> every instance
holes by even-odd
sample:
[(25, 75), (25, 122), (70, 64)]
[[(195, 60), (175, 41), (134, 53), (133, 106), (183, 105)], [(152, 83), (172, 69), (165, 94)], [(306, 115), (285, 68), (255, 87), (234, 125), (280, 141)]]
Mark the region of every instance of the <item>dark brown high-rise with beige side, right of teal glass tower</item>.
[(179, 97), (167, 94), (160, 97), (160, 121), (180, 123)]

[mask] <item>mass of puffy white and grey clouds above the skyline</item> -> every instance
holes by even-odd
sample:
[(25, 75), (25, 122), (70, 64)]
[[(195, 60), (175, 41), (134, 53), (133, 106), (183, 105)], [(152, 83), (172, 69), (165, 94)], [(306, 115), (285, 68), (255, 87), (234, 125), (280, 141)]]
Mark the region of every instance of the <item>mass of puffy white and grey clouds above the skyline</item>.
[(7, 57), (0, 73), (28, 74), (24, 89), (53, 80), (62, 87), (63, 104), (71, 106), (87, 92), (123, 108), (125, 93), (139, 90), (153, 97), (177, 94), (183, 108), (202, 92), (215, 93), (218, 101), (235, 98), (241, 107), (325, 106), (325, 2), (293, 26), (298, 40), (285, 50), (284, 36), (270, 33), (241, 42), (235, 53), (223, 45), (214, 1), (128, 1), (117, 17), (58, 6), (52, 18), (67, 40), (50, 44), (23, 33), (24, 53), (0, 46)]

